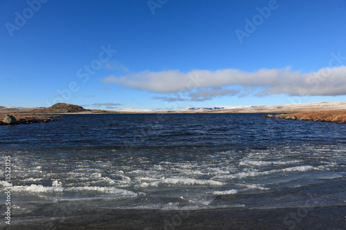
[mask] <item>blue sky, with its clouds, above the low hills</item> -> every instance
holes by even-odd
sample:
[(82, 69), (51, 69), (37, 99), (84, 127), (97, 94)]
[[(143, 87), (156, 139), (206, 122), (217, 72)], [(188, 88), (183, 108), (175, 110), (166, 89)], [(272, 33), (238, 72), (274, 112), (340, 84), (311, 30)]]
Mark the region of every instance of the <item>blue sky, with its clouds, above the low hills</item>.
[(346, 1), (0, 1), (0, 105), (346, 101)]

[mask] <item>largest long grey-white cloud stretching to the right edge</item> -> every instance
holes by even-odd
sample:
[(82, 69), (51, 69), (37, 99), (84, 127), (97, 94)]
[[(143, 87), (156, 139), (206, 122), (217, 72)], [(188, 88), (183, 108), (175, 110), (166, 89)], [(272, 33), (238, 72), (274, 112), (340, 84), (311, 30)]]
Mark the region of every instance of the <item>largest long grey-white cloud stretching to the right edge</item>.
[[(154, 93), (190, 93), (191, 99), (208, 99), (217, 95), (237, 93), (244, 95), (248, 92), (255, 92), (254, 95), (257, 97), (275, 94), (346, 95), (346, 66), (321, 68), (317, 72), (304, 74), (291, 71), (290, 68), (262, 68), (255, 72), (232, 68), (216, 71), (192, 70), (188, 73), (180, 70), (143, 71), (121, 77), (111, 75), (102, 79), (102, 82)], [(241, 90), (215, 91), (215, 88), (228, 86), (240, 86)], [(192, 93), (196, 90), (199, 92)]]

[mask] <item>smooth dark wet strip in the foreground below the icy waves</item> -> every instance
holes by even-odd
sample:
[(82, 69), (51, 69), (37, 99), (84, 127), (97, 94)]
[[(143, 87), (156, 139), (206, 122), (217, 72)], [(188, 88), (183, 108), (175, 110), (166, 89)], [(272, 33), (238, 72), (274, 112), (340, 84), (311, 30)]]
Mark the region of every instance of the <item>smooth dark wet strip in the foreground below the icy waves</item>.
[[(51, 205), (51, 204), (47, 204)], [(79, 217), (12, 224), (5, 229), (345, 229), (346, 207), (210, 209), (199, 211), (98, 209)]]

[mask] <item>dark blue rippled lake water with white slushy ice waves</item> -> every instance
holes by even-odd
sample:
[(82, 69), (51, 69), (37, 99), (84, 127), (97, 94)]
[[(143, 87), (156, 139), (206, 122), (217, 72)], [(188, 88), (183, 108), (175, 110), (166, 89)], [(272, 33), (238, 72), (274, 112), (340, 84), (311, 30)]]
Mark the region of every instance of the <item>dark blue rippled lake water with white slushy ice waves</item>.
[(0, 126), (2, 175), (12, 160), (0, 199), (15, 194), (16, 221), (38, 218), (38, 204), (80, 200), (122, 209), (345, 206), (346, 125), (261, 115), (64, 115)]

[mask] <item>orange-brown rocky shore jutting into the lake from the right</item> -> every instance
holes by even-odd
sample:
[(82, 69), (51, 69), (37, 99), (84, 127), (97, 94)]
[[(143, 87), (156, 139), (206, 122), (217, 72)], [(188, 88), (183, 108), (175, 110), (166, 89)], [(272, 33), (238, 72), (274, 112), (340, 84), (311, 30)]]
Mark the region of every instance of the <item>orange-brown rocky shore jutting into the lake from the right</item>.
[(320, 112), (290, 113), (290, 114), (279, 114), (279, 115), (268, 114), (262, 117), (314, 121), (314, 122), (336, 122), (336, 123), (346, 124), (346, 111), (320, 111)]

